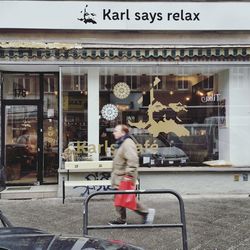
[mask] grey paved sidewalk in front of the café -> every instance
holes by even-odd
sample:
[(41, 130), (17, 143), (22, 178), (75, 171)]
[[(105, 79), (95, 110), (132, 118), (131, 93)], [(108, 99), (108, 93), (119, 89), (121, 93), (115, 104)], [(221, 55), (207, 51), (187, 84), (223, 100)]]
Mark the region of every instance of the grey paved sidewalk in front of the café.
[[(250, 249), (250, 198), (233, 196), (183, 196), (189, 249), (248, 250)], [(143, 195), (142, 201), (156, 209), (155, 223), (178, 223), (178, 202), (170, 197)], [(40, 228), (51, 233), (82, 234), (81, 199), (47, 198), (33, 200), (0, 200), (0, 209), (16, 226)], [(89, 206), (89, 223), (106, 224), (115, 218), (109, 197), (95, 198)], [(128, 213), (128, 223), (140, 218)], [(149, 250), (182, 249), (181, 230), (117, 229), (90, 230), (89, 235), (120, 239)]]

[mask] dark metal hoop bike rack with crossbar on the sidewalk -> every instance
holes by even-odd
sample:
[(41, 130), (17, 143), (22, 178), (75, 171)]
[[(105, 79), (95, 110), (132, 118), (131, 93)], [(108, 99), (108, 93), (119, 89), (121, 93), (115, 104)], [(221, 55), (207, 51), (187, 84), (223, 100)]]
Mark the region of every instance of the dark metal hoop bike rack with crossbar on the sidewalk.
[[(89, 225), (88, 224), (88, 204), (91, 198), (97, 195), (111, 195), (111, 194), (172, 194), (179, 201), (180, 207), (180, 219), (181, 223), (178, 224), (129, 224), (129, 225)], [(88, 235), (88, 230), (90, 229), (124, 229), (124, 228), (158, 228), (158, 227), (169, 227), (169, 228), (181, 228), (182, 229), (182, 245), (183, 250), (188, 250), (187, 244), (187, 229), (186, 229), (186, 219), (185, 219), (185, 210), (184, 202), (182, 197), (175, 191), (171, 189), (154, 189), (154, 190), (114, 190), (114, 191), (105, 191), (105, 192), (94, 192), (90, 194), (85, 202), (83, 208), (83, 234)]]

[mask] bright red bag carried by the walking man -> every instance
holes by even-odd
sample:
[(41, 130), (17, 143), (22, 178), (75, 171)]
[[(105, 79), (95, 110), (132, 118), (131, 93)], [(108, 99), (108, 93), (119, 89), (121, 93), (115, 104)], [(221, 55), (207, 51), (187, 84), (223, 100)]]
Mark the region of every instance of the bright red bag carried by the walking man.
[[(135, 185), (130, 180), (123, 180), (120, 182), (118, 190), (135, 190)], [(136, 195), (116, 194), (114, 203), (116, 207), (126, 207), (131, 210), (136, 210)]]

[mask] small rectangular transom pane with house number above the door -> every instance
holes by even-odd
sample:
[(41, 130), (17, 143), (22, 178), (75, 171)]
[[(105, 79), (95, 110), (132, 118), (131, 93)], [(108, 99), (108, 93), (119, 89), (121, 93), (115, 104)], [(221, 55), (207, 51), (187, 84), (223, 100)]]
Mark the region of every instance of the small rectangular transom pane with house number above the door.
[(39, 75), (4, 74), (3, 97), (15, 100), (39, 99)]

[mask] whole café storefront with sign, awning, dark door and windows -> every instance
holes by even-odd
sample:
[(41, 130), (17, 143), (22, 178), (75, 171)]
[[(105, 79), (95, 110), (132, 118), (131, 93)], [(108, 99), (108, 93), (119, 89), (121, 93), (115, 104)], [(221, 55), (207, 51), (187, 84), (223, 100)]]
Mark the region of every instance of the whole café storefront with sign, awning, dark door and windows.
[[(0, 18), (9, 184), (57, 183), (69, 144), (74, 160), (112, 159), (118, 123), (131, 127), (147, 176), (223, 166), (248, 180), (250, 4), (129, 3), (22, 1), (20, 13), (48, 18)], [(15, 14), (12, 4), (3, 7)]]

